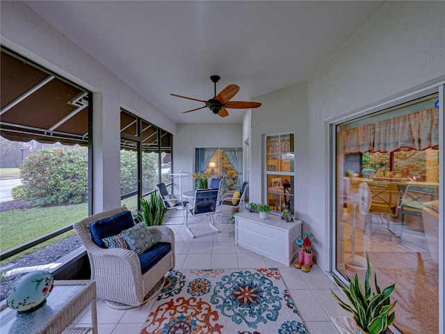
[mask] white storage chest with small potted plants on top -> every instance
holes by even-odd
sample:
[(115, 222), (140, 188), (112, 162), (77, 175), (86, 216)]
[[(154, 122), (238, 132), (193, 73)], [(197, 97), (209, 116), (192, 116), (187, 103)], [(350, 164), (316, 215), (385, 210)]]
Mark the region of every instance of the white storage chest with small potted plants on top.
[(235, 243), (255, 253), (290, 266), (298, 255), (296, 239), (301, 237), (302, 221), (287, 223), (281, 216), (242, 212), (235, 216)]

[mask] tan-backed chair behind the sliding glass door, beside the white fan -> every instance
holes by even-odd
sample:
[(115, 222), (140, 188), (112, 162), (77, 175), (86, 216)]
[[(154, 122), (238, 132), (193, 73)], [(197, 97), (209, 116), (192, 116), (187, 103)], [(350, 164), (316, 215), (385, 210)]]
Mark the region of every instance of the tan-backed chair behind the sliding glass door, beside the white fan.
[[(401, 242), (401, 234), (396, 234), (393, 230), (391, 230), (391, 216), (397, 216), (397, 208), (398, 208), (398, 189), (397, 185), (394, 183), (368, 183), (369, 190), (371, 191), (371, 207), (369, 208), (370, 216), (366, 218), (364, 232), (368, 230), (373, 232), (372, 230), (372, 221), (373, 215), (372, 213), (380, 214), (380, 221), (383, 223), (383, 216), (387, 216), (386, 219), (386, 229), (389, 232), (391, 237), (398, 237), (398, 241)], [(381, 234), (381, 233), (378, 233)]]

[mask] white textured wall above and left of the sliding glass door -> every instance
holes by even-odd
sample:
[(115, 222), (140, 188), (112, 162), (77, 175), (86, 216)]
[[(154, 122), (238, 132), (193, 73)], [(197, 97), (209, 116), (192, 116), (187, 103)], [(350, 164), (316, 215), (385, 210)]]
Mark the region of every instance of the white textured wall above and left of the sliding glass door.
[(444, 74), (445, 2), (388, 1), (309, 79), (307, 223), (321, 269), (330, 260), (328, 123), (443, 81)]

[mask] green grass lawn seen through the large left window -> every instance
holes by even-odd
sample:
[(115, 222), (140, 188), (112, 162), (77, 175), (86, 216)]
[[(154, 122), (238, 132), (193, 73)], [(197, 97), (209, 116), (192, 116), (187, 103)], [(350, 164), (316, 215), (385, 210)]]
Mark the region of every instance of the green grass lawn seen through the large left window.
[[(3, 252), (24, 244), (26, 241), (31, 241), (44, 234), (63, 228), (87, 216), (88, 203), (0, 212), (0, 251)], [(54, 242), (70, 237), (75, 233), (74, 230), (71, 230), (39, 246), (30, 248), (26, 253), (31, 253), (48, 244), (54, 244)], [(6, 261), (9, 262), (24, 254), (20, 253)]]

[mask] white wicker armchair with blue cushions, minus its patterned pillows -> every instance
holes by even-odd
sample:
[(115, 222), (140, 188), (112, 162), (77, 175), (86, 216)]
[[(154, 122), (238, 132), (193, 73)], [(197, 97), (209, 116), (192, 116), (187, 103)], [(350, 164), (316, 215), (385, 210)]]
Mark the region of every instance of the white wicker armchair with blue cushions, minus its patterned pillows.
[(175, 268), (175, 234), (167, 226), (147, 228), (161, 233), (161, 238), (140, 255), (129, 249), (106, 248), (102, 239), (133, 226), (125, 206), (73, 224), (87, 250), (97, 296), (111, 308), (133, 308), (147, 302), (163, 286), (165, 273)]

